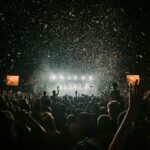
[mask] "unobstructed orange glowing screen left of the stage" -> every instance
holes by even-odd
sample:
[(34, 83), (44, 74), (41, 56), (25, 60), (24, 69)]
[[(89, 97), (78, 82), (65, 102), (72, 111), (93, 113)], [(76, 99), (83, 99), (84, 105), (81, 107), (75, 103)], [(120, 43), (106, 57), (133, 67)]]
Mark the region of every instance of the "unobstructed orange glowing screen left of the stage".
[(6, 85), (18, 86), (19, 85), (19, 76), (17, 76), (17, 75), (7, 75), (6, 76)]

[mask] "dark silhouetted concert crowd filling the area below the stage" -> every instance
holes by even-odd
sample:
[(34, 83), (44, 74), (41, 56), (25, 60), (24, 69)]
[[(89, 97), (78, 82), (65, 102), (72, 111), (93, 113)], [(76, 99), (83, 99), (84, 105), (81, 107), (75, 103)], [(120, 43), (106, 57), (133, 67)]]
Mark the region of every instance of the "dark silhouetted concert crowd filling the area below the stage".
[(150, 93), (112, 87), (100, 97), (1, 91), (0, 148), (150, 149)]

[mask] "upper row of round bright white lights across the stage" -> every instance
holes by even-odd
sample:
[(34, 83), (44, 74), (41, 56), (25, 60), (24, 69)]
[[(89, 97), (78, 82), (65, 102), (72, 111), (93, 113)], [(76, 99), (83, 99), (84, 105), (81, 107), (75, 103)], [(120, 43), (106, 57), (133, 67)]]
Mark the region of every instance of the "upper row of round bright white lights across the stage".
[(50, 80), (89, 80), (89, 81), (92, 81), (93, 80), (93, 76), (81, 76), (81, 77), (78, 77), (76, 75), (74, 76), (67, 76), (65, 77), (64, 75), (51, 75), (50, 76)]

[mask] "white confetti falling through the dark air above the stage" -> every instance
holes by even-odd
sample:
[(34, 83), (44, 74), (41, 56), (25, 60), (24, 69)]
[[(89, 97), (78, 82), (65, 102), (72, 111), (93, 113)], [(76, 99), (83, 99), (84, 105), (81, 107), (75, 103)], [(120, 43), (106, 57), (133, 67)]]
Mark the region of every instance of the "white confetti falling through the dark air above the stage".
[(107, 82), (145, 66), (142, 71), (147, 75), (150, 13), (144, 5), (105, 0), (2, 1), (0, 69), (7, 73), (13, 62), (12, 72), (34, 74), (46, 65), (96, 72)]

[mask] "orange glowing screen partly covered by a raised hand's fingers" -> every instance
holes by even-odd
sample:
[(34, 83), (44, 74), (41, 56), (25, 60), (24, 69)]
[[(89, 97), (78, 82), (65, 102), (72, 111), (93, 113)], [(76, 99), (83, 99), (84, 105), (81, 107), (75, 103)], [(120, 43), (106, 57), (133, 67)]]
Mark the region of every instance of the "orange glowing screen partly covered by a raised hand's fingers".
[(128, 85), (135, 85), (136, 81), (138, 81), (137, 84), (140, 83), (140, 76), (139, 75), (127, 75)]

